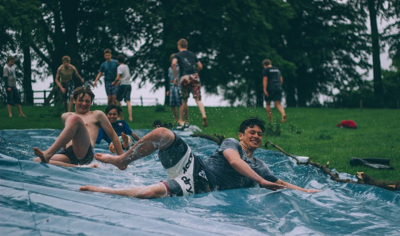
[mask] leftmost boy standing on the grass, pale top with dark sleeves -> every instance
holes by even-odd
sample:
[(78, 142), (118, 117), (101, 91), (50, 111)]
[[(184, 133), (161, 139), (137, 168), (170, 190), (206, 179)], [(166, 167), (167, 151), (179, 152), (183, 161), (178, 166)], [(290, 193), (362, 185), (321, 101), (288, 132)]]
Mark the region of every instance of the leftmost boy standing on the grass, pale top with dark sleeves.
[(7, 111), (8, 116), (12, 117), (11, 106), (16, 105), (18, 108), (19, 116), (26, 117), (22, 112), (21, 97), (19, 96), (18, 89), (16, 88), (16, 76), (15, 76), (15, 58), (8, 56), (6, 63), (3, 68), (3, 80), (5, 93), (7, 95)]

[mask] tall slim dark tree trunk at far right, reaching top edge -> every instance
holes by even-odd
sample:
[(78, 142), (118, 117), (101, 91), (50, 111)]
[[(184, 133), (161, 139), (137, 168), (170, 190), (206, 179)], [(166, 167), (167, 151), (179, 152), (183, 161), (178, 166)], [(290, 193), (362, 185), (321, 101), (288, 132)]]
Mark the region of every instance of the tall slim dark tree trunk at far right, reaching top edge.
[(379, 58), (379, 32), (376, 23), (376, 9), (374, 0), (368, 0), (369, 20), (371, 24), (372, 39), (372, 68), (373, 68), (373, 93), (376, 105), (382, 106), (383, 86)]

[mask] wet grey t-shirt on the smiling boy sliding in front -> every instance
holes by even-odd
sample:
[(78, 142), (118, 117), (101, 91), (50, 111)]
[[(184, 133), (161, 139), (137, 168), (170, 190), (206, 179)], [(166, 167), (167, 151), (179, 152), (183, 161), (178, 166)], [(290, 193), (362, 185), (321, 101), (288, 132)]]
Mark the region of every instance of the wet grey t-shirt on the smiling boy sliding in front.
[(236, 139), (228, 138), (222, 142), (214, 154), (205, 160), (201, 160), (202, 168), (207, 176), (211, 191), (253, 187), (256, 185), (254, 181), (242, 176), (229, 165), (222, 155), (222, 152), (226, 149), (237, 151), (240, 158), (263, 179), (270, 182), (276, 182), (278, 180), (263, 161), (256, 158), (249, 158)]

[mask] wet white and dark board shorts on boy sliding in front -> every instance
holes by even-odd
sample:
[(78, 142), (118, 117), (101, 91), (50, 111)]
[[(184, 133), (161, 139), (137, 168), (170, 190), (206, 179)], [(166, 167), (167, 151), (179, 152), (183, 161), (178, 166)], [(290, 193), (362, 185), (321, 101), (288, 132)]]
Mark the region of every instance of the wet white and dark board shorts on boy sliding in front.
[(191, 153), (190, 147), (174, 133), (173, 143), (166, 149), (158, 152), (158, 158), (168, 173), (168, 180), (161, 181), (169, 196), (188, 196), (195, 193), (204, 193), (207, 190), (207, 181), (198, 164), (198, 160)]

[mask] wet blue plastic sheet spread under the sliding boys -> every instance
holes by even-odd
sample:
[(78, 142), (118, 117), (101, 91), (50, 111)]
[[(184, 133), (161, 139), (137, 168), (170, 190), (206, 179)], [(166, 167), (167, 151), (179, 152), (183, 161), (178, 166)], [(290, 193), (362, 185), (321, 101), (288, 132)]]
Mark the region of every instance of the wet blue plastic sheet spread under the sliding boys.
[[(398, 193), (341, 184), (311, 166), (258, 150), (280, 179), (317, 194), (243, 188), (190, 197), (138, 200), (80, 192), (82, 185), (114, 188), (167, 178), (156, 154), (125, 171), (63, 168), (33, 162), (32, 147), (46, 149), (59, 130), (0, 130), (0, 234), (12, 235), (400, 235)], [(135, 131), (143, 135), (148, 130)], [(214, 143), (178, 133), (201, 157)], [(107, 152), (101, 143), (95, 152)], [(351, 177), (351, 176), (350, 176)]]

